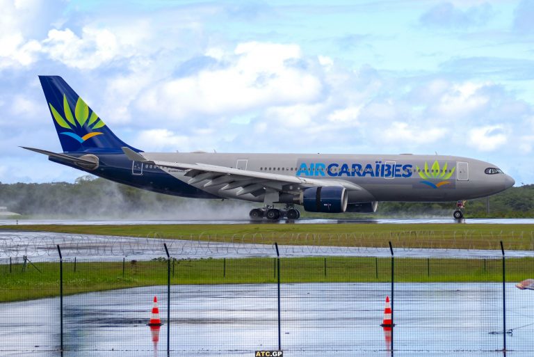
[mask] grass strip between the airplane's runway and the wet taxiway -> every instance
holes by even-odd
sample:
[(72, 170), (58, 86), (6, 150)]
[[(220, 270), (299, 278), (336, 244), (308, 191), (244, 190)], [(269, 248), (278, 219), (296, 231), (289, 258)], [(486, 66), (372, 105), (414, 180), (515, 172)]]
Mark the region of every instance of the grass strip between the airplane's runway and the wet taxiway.
[(5, 225), (7, 230), (66, 232), (239, 243), (397, 248), (534, 250), (534, 225), (516, 224), (238, 224)]

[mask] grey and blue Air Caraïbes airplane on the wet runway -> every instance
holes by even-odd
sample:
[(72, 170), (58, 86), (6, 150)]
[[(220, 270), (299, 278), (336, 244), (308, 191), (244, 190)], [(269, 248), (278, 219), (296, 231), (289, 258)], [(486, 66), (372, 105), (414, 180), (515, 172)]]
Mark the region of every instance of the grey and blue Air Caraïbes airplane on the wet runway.
[(115, 136), (63, 78), (39, 79), (63, 152), (22, 148), (140, 189), (263, 203), (250, 210), (254, 221), (299, 219), (298, 206), (307, 212), (372, 213), (379, 201), (457, 201), (453, 217), (462, 219), (463, 200), (515, 184), (494, 164), (437, 154), (143, 152)]

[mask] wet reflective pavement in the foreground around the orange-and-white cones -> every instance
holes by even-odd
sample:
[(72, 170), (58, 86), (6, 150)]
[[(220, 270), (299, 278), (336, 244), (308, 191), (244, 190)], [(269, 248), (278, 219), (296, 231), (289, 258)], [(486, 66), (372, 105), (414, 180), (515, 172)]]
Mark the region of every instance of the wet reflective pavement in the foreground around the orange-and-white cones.
[[(286, 356), (390, 356), (385, 283), (282, 284)], [(277, 347), (276, 285), (175, 285), (65, 297), (65, 356), (253, 356)], [(532, 356), (532, 292), (507, 286), (507, 356)], [(396, 356), (503, 356), (501, 285), (396, 285)], [(159, 342), (146, 326), (159, 297)], [(58, 356), (58, 298), (2, 304), (2, 356)]]

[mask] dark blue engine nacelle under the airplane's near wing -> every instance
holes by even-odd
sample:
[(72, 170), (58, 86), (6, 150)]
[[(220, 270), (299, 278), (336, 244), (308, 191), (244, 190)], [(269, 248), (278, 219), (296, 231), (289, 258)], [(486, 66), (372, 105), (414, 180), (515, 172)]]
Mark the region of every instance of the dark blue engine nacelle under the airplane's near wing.
[(302, 193), (302, 202), (307, 212), (341, 213), (345, 212), (348, 193), (344, 187), (311, 187)]

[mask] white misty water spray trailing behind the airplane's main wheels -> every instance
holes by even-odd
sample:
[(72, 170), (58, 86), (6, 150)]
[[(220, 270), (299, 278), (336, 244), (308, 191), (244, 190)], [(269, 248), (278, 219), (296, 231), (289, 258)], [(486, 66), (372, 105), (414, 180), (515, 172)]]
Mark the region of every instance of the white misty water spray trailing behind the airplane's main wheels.
[(234, 200), (179, 198), (95, 178), (74, 184), (0, 184), (0, 206), (42, 219), (236, 220), (254, 205)]

